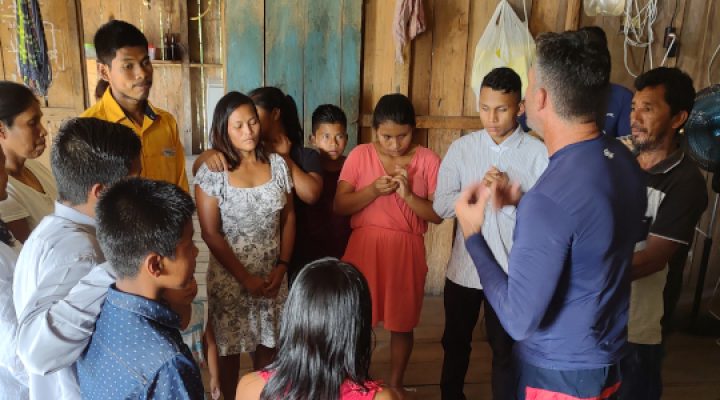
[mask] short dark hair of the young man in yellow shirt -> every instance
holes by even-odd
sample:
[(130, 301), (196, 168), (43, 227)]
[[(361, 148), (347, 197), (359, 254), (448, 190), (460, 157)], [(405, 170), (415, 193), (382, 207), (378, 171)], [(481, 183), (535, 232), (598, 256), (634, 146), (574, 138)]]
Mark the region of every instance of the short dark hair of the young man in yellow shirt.
[(95, 33), (95, 52), (101, 64), (110, 65), (115, 53), (124, 47), (144, 47), (147, 49), (147, 38), (135, 25), (120, 20), (112, 20)]

